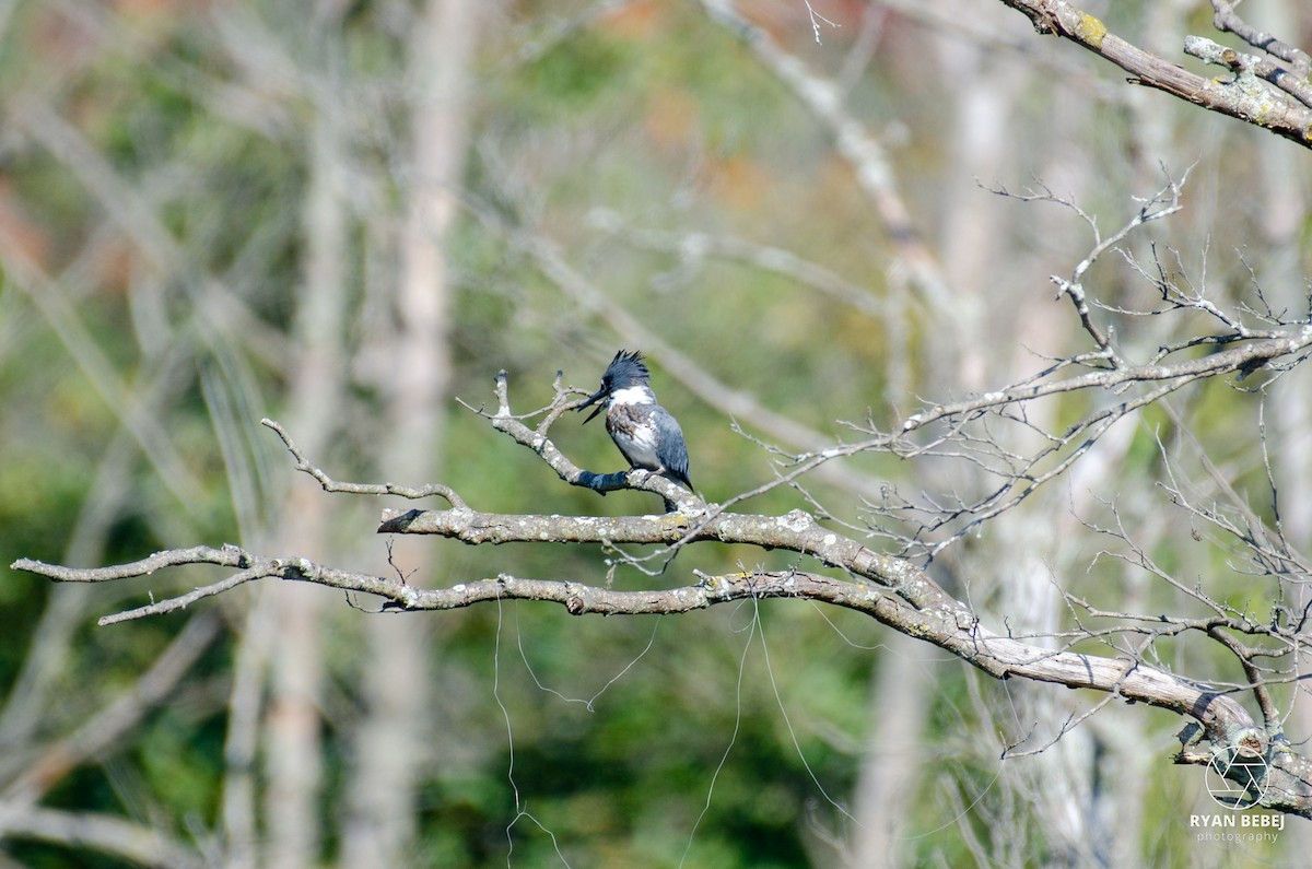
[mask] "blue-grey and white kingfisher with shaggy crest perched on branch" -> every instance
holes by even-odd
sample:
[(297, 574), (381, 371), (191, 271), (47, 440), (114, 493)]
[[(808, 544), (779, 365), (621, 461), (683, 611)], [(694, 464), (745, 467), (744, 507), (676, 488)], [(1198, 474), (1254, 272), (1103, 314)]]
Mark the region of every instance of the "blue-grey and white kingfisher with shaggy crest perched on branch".
[(605, 399), (605, 404), (598, 404), (588, 415), (584, 425), (605, 410), (606, 432), (630, 467), (661, 474), (691, 490), (684, 431), (678, 427), (678, 420), (656, 403), (656, 394), (649, 383), (651, 371), (643, 362), (643, 354), (638, 350), (619, 350), (601, 375), (601, 389), (577, 410)]

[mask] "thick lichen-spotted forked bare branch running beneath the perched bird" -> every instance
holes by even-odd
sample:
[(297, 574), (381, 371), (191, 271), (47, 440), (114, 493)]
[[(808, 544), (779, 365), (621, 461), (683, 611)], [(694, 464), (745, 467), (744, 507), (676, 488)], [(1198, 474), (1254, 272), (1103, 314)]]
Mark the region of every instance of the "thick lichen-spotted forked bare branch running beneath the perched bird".
[[(411, 512), (390, 516), (386, 530), (442, 533), (466, 542), (672, 542), (685, 530), (686, 517), (649, 516), (598, 520), (594, 517), (489, 516), (472, 511)], [(685, 613), (736, 600), (804, 599), (866, 613), (880, 622), (945, 648), (996, 679), (1022, 677), (1069, 688), (1090, 688), (1145, 702), (1195, 719), (1218, 747), (1253, 744), (1273, 756), (1273, 785), (1263, 805), (1312, 816), (1312, 764), (1288, 752), (1275, 752), (1249, 713), (1225, 693), (1203, 688), (1128, 658), (1099, 658), (1073, 651), (1052, 651), (984, 627), (974, 612), (953, 599), (909, 562), (871, 551), (857, 541), (834, 534), (800, 512), (786, 516), (722, 516), (703, 540), (774, 545), (815, 555), (871, 582), (849, 582), (806, 571), (743, 572), (701, 576), (697, 585), (672, 589), (614, 591), (575, 582), (499, 576), (449, 588), (420, 589), (396, 580), (353, 574), (314, 564), (308, 559), (264, 559), (240, 553), (248, 570), (265, 576), (311, 582), (345, 591), (378, 595), (396, 609), (443, 610), (497, 600), (556, 603), (575, 614)], [(177, 550), (160, 553), (135, 566), (73, 570), (39, 562), (14, 564), (51, 579), (75, 582), (117, 580), (148, 572), (156, 563), (224, 563), (231, 550)], [(146, 609), (146, 608), (143, 608)], [(147, 614), (134, 610), (125, 617)], [(109, 620), (102, 620), (109, 621)], [(1195, 752), (1197, 753), (1197, 752)], [(1183, 760), (1191, 763), (1194, 755)]]

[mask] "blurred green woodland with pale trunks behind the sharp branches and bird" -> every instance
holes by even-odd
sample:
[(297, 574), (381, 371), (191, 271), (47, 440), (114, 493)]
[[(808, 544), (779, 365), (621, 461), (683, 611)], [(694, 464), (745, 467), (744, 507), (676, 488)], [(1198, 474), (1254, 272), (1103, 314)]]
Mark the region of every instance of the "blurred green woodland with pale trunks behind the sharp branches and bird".
[[(674, 582), (609, 576), (594, 546), (388, 547), (371, 533), (387, 503), (324, 496), (257, 420), (282, 420), (340, 479), (442, 480), (488, 511), (643, 512), (651, 495), (562, 486), (454, 403), (489, 400), (506, 369), (517, 403), (541, 406), (558, 369), (594, 387), (618, 347), (640, 348), (693, 479), (723, 500), (773, 474), (753, 438), (815, 449), (850, 436), (837, 420), (890, 424), (1073, 352), (1078, 323), (1048, 276), (1088, 252), (1089, 227), (984, 188), (1038, 179), (1115, 227), (1164, 167), (1189, 171), (1185, 210), (1153, 240), (1221, 299), (1256, 284), (1305, 306), (1305, 151), (1126, 87), (997, 3), (811, 5), (744, 4), (768, 37), (753, 42), (714, 3), (0, 0), (0, 562), (236, 541), (416, 585), (502, 570)], [(1090, 11), (1182, 62), (1212, 14)], [(1312, 38), (1299, 4), (1245, 11)], [(1127, 263), (1088, 280), (1111, 303), (1152, 302)], [(1170, 328), (1141, 318), (1127, 343), (1147, 354)], [(1305, 381), (1262, 406), (1283, 530), (1303, 547)], [(1214, 385), (1179, 404), (1206, 420), (1187, 428), (1197, 446), (1169, 413), (1145, 415), (934, 570), (1018, 633), (1067, 620), (1054, 576), (1151, 610), (1162, 591), (1098, 559), (1107, 543), (1081, 524), (1115, 499), (1178, 575), (1231, 575), (1221, 593), (1245, 595), (1225, 546), (1190, 546), (1189, 516), (1164, 508), (1156, 438), (1179, 437), (1182, 462), (1211, 457), (1200, 484), (1261, 488), (1258, 403)], [(600, 431), (569, 429), (555, 437), (576, 462), (618, 467)], [(953, 474), (859, 456), (807, 491), (850, 519), (883, 484), (972, 484)], [(752, 504), (807, 505), (787, 488)], [(711, 572), (791, 563), (698, 558)], [(1001, 760), (1092, 701), (981, 681), (853, 613), (398, 617), (269, 584), (93, 626), (202, 582), (0, 583), (5, 865), (1307, 853), (1296, 828), (1195, 841), (1187, 813), (1208, 797), (1197, 771), (1160, 772), (1170, 715), (1107, 708)]]

